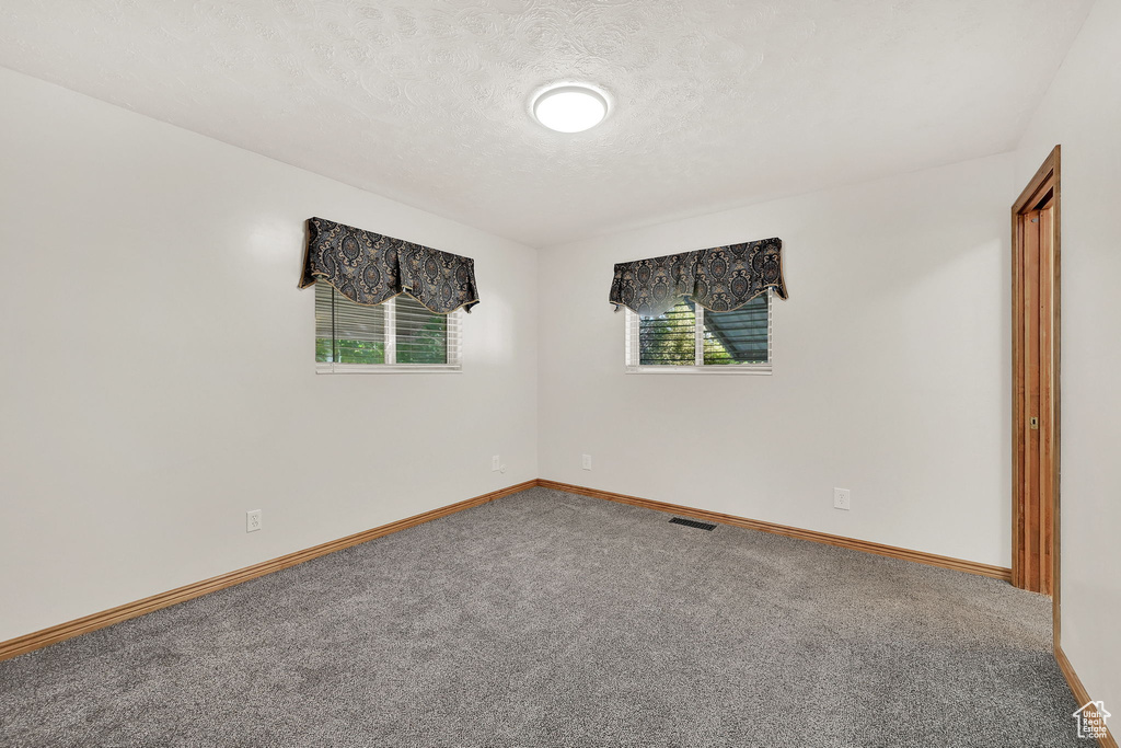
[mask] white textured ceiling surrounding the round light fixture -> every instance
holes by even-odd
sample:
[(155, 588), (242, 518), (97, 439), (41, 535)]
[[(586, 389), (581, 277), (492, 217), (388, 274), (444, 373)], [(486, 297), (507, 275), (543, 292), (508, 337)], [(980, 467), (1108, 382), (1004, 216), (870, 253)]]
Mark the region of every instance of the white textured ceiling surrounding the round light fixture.
[(1008, 150), (1090, 4), (3, 0), (0, 65), (541, 247)]

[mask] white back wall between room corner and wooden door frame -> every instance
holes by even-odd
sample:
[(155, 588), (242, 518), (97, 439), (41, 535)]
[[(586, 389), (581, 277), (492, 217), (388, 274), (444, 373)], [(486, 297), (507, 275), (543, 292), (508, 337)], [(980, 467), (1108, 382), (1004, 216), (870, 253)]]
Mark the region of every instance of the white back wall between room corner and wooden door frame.
[[(1012, 184), (998, 156), (544, 251), (541, 477), (1008, 566)], [(623, 373), (614, 262), (775, 236), (773, 376)]]

